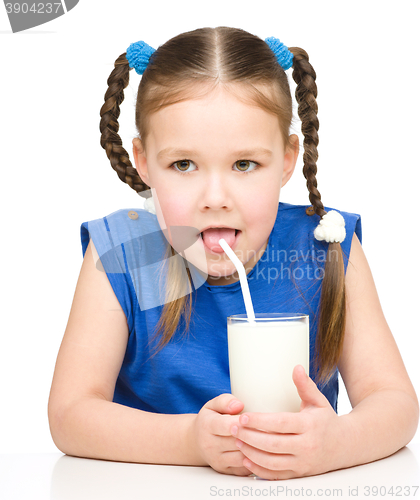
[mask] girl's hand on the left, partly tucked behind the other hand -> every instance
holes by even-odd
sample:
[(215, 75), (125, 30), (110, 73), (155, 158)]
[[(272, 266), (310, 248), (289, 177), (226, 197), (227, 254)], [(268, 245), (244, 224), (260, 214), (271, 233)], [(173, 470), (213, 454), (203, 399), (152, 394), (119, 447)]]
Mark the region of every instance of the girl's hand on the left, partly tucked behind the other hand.
[(221, 394), (206, 403), (193, 424), (194, 439), (202, 460), (217, 472), (249, 476), (243, 466), (244, 455), (235, 444), (230, 430), (239, 425), (244, 404), (232, 394)]

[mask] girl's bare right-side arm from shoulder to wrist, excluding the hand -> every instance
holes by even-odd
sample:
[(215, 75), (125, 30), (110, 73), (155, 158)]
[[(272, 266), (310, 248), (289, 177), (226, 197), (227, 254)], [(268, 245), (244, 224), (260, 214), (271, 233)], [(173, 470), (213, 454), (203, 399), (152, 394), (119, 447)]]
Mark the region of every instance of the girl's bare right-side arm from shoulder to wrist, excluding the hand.
[(419, 404), (356, 236), (346, 287), (348, 319), (339, 370), (353, 407), (343, 436), (350, 466), (405, 446), (416, 432)]

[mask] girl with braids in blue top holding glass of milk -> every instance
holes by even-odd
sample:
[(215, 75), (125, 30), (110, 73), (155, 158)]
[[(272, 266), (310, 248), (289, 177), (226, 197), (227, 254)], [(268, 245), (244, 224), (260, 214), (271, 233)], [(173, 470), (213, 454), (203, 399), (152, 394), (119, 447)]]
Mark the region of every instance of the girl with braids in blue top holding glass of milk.
[[(290, 67), (307, 207), (278, 201), (299, 150)], [(117, 133), (132, 68), (143, 75), (136, 168)], [(49, 400), (61, 451), (285, 479), (370, 462), (414, 436), (418, 401), (360, 218), (325, 210), (317, 189), (315, 78), (304, 50), (225, 27), (156, 51), (138, 42), (116, 60), (101, 145), (147, 210), (82, 225), (84, 261)], [(226, 318), (245, 307), (220, 237), (246, 268), (255, 312), (310, 316), (310, 377), (293, 371), (299, 413), (241, 414), (230, 394)], [(342, 416), (338, 371), (353, 407)]]

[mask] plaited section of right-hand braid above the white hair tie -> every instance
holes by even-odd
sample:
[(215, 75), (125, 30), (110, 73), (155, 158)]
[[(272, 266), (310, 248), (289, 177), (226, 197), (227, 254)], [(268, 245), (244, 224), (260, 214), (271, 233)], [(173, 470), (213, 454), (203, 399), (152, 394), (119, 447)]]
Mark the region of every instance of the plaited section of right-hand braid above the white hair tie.
[(315, 83), (316, 73), (309, 63), (308, 54), (299, 47), (289, 49), (293, 53), (293, 80), (296, 82), (296, 100), (299, 104), (298, 115), (302, 121), (302, 133), (304, 135), (303, 146), (303, 175), (306, 179), (306, 186), (309, 191), (309, 201), (312, 207), (307, 210), (308, 215), (316, 213), (320, 217), (325, 214), (324, 205), (321, 202), (321, 194), (317, 187), (316, 180), (318, 160), (317, 146), (319, 143), (318, 129), (319, 121), (317, 117), (318, 95)]

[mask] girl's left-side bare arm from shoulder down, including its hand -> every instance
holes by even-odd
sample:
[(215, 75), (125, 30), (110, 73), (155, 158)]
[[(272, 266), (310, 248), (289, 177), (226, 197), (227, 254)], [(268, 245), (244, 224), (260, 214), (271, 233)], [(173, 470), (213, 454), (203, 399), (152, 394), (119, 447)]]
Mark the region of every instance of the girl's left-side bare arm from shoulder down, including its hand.
[(231, 419), (238, 417), (220, 415), (242, 410), (240, 403), (229, 408), (232, 395), (215, 398), (198, 415), (162, 415), (112, 402), (128, 327), (106, 274), (95, 267), (94, 255), (91, 241), (52, 381), (48, 417), (56, 446), (79, 457), (210, 464), (220, 471), (249, 474), (230, 435)]

